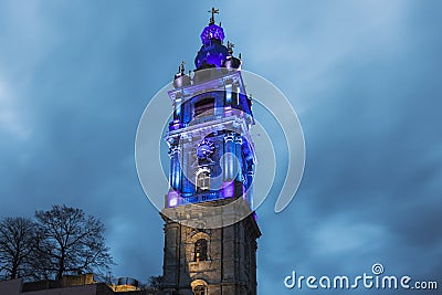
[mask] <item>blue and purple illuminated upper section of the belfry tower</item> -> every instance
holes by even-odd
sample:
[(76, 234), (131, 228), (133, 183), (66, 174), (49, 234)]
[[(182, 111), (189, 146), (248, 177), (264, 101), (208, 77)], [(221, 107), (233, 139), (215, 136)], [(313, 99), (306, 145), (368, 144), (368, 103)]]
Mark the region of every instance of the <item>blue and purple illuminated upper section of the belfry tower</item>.
[(252, 99), (233, 44), (212, 18), (201, 33), (193, 75), (183, 63), (168, 94), (173, 105), (166, 140), (170, 189), (166, 206), (243, 198), (252, 204), (255, 152), (250, 136)]

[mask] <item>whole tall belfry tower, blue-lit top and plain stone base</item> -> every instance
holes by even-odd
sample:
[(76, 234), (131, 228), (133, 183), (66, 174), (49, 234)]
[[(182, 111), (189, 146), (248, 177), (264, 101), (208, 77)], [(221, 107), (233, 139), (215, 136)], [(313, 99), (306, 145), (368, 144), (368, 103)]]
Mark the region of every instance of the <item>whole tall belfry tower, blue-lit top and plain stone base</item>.
[(255, 295), (256, 239), (252, 211), (255, 151), (252, 98), (241, 60), (214, 23), (201, 33), (196, 70), (183, 64), (169, 92), (173, 116), (165, 220), (162, 291), (180, 295)]

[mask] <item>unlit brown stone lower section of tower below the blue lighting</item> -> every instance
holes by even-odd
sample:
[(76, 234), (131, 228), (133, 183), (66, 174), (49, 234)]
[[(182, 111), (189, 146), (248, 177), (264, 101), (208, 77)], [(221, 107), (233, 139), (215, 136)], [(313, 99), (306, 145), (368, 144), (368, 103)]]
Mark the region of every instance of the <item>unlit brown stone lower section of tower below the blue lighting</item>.
[(179, 208), (188, 222), (171, 220), (165, 210), (165, 294), (256, 294), (256, 240), (261, 231), (253, 212), (233, 224), (204, 229), (185, 225), (204, 219), (193, 214), (194, 206)]

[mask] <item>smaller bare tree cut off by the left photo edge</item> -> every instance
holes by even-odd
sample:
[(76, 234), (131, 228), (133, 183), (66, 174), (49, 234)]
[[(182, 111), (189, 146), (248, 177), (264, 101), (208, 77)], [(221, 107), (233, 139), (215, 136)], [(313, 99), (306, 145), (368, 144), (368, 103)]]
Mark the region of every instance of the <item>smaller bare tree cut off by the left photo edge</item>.
[(25, 218), (4, 218), (0, 221), (0, 271), (8, 278), (30, 275), (35, 229), (35, 223)]

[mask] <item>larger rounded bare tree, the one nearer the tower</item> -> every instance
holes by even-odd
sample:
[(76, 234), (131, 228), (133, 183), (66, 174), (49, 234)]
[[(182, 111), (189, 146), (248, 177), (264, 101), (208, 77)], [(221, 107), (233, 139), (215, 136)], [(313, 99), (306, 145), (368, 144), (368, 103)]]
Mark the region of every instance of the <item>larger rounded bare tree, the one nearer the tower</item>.
[(44, 276), (92, 272), (103, 275), (113, 264), (109, 247), (105, 245), (104, 224), (83, 210), (53, 206), (49, 211), (36, 211), (39, 241), (36, 253), (39, 272)]

